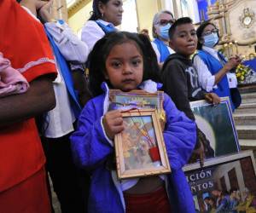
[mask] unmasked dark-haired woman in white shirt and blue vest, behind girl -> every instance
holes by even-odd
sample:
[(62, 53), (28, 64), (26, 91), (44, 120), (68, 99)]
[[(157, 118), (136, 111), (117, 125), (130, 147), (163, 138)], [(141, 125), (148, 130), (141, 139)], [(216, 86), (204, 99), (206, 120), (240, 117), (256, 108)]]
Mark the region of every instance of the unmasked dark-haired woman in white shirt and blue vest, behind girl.
[(94, 44), (108, 32), (116, 31), (122, 21), (122, 0), (94, 0), (90, 19), (82, 30), (82, 41), (93, 49)]

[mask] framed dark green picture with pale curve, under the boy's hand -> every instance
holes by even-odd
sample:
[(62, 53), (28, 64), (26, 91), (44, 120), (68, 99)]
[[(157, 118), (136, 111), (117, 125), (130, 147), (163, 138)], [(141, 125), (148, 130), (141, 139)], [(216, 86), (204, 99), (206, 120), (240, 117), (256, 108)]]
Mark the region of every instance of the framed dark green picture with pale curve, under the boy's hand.
[(240, 150), (230, 101), (221, 98), (217, 106), (207, 101), (190, 102), (199, 128), (199, 139), (205, 147), (205, 156), (214, 158)]

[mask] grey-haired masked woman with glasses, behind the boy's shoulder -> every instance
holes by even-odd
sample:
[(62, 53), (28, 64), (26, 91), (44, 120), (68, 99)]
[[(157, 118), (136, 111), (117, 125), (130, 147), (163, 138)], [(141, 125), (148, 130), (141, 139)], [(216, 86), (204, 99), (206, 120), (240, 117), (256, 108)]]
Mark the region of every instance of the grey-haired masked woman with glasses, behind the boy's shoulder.
[(169, 47), (169, 29), (174, 22), (173, 14), (168, 10), (162, 10), (154, 14), (152, 47), (159, 64), (163, 64), (166, 58), (174, 51)]

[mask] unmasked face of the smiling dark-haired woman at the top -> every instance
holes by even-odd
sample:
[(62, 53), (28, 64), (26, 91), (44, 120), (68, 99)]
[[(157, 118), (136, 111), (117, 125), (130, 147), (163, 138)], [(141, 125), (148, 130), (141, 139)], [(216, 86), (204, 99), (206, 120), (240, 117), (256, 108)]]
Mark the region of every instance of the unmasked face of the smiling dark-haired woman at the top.
[(99, 9), (102, 14), (102, 20), (112, 23), (114, 26), (119, 26), (122, 22), (123, 1), (109, 0), (108, 3), (99, 3)]

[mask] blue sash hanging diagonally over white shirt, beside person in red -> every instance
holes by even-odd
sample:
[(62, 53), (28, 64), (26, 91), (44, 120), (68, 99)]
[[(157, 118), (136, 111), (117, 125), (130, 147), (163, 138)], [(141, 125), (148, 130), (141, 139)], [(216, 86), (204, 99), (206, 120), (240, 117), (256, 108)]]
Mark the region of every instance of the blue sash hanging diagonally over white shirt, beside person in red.
[(65, 60), (63, 55), (61, 55), (60, 50), (56, 46), (53, 37), (50, 35), (50, 33), (47, 31), (47, 29), (45, 27), (44, 27), (44, 30), (47, 34), (48, 39), (49, 39), (49, 43), (50, 43), (50, 45), (51, 45), (51, 47), (54, 51), (55, 59), (57, 61), (58, 66), (60, 67), (62, 77), (64, 78), (64, 81), (65, 81), (65, 84), (66, 84), (66, 87), (67, 87), (67, 91), (68, 91), (68, 94), (69, 94), (69, 97), (70, 97), (71, 107), (73, 109), (75, 118), (79, 118), (82, 107), (79, 104), (78, 93), (73, 88), (73, 77), (71, 75), (71, 70), (70, 70), (70, 68), (67, 64), (67, 61)]

